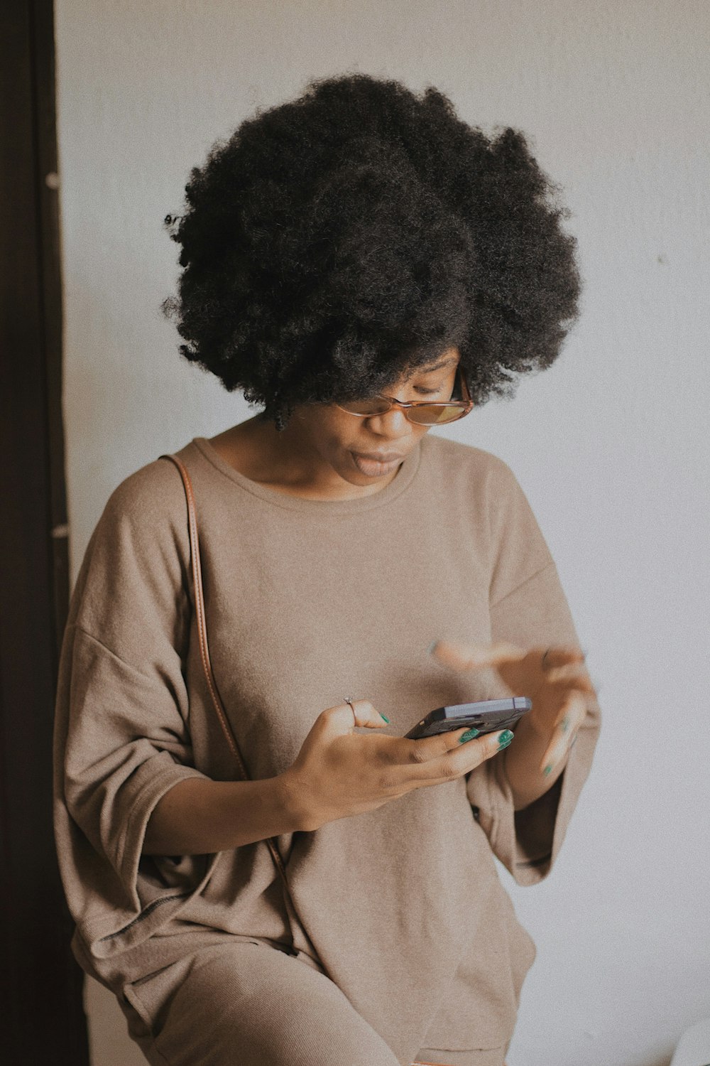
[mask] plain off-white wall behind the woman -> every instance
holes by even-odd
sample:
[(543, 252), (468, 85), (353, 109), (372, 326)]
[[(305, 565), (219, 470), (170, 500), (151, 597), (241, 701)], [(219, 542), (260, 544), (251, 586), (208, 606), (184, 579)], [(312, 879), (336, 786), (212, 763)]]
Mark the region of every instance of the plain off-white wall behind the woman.
[[(163, 216), (257, 104), (348, 68), (433, 83), (525, 130), (564, 187), (583, 320), (513, 403), (450, 431), (526, 488), (606, 711), (559, 865), (511, 888), (539, 957), (510, 1066), (664, 1066), (710, 1015), (709, 26), (704, 0), (56, 4), (75, 574), (122, 478), (250, 414), (158, 308)], [(95, 1066), (141, 1063), (88, 998)]]

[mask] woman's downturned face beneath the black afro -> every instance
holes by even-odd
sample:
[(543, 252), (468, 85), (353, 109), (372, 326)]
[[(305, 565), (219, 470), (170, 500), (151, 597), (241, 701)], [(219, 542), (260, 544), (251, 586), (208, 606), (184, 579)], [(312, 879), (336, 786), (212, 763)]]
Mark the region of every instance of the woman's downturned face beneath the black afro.
[[(401, 401), (449, 400), (459, 360), (458, 349), (450, 348), (428, 367), (402, 375), (383, 393)], [(358, 418), (335, 404), (309, 404), (294, 409), (294, 418), (281, 436), (290, 435), (299, 446), (300, 457), (324, 486), (336, 488), (340, 483), (344, 487), (342, 482), (347, 482), (377, 491), (392, 481), (402, 459), (429, 429), (410, 422), (397, 407), (384, 415)]]

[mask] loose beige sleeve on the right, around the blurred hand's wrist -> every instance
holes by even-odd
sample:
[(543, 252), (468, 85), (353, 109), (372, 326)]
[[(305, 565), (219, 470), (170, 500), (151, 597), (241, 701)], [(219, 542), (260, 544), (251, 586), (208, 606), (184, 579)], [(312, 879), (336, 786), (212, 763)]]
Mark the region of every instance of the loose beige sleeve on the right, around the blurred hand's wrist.
[[(492, 641), (521, 647), (579, 647), (557, 568), (527, 499), (513, 474), (499, 465), (502, 490), (492, 504), (496, 545), (490, 594)], [(543, 796), (515, 811), (505, 759), (473, 771), (466, 793), (497, 858), (519, 885), (545, 877), (555, 862), (582, 786), (589, 775), (600, 724), (599, 707), (588, 697), (587, 717), (564, 772)]]

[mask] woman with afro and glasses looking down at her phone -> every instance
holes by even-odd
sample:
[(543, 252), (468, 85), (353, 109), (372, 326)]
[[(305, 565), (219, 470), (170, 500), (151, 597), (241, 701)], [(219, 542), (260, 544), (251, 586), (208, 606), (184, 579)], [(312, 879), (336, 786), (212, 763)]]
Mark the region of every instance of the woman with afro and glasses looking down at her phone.
[[(243, 123), (167, 220), (182, 353), (262, 408), (179, 452), (251, 779), (165, 459), (86, 550), (55, 744), (73, 950), (153, 1064), (503, 1061), (534, 947), (493, 856), (547, 874), (598, 708), (515, 478), (427, 434), (558, 355), (579, 281), (551, 193), (522, 134), (348, 75)], [(511, 692), (514, 739), (404, 738)]]

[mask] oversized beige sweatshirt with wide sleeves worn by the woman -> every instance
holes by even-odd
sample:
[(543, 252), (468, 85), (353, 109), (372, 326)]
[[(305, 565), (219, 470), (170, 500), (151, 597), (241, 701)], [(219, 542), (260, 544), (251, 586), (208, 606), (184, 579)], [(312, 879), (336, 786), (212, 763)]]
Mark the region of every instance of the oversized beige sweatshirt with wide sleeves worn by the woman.
[[(357, 500), (283, 495), (204, 438), (178, 453), (195, 488), (212, 664), (252, 778), (296, 758), (315, 717), (370, 699), (406, 733), (428, 710), (508, 694), (457, 674), (435, 637), (577, 644), (555, 564), (510, 469), (424, 437)], [(143, 857), (160, 797), (236, 774), (210, 708), (191, 610), (185, 499), (156, 459), (111, 496), (73, 592), (55, 724), (55, 830), (81, 965), (117, 995), (205, 946), (312, 951), (263, 841)], [(302, 925), (353, 1006), (409, 1064), (419, 1047), (510, 1038), (534, 947), (493, 856), (521, 885), (554, 862), (598, 731), (589, 714), (560, 781), (517, 813), (500, 754), (375, 811), (279, 837)], [(513, 742), (514, 743), (514, 742)]]

